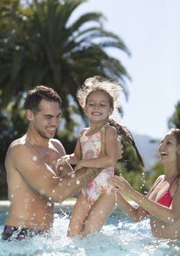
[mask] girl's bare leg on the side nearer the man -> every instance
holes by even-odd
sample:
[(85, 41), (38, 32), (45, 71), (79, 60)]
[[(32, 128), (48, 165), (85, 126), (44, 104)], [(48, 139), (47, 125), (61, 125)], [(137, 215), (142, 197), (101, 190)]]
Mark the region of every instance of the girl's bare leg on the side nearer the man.
[(83, 231), (84, 222), (90, 212), (91, 204), (86, 201), (86, 197), (80, 192), (76, 204), (70, 217), (68, 236), (73, 237)]

